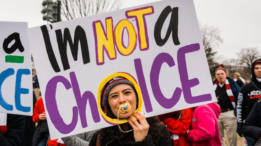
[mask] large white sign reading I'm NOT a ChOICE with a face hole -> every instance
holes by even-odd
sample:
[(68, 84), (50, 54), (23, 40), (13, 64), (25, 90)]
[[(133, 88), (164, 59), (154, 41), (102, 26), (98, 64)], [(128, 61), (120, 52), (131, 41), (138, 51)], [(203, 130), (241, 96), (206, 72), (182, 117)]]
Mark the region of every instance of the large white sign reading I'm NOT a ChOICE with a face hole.
[[(216, 101), (192, 0), (166, 0), (27, 29), (51, 139), (117, 124), (101, 89), (117, 76), (145, 117)], [(119, 123), (126, 122), (121, 120)]]

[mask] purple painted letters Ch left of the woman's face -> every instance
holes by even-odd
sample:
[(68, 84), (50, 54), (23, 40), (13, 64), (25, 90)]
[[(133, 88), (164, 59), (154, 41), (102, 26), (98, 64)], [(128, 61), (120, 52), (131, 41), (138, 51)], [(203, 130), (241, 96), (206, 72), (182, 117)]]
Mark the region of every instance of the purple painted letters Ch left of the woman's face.
[[(85, 91), (84, 94), (81, 96), (79, 84), (74, 72), (70, 72), (70, 78), (71, 78), (72, 86), (70, 82), (63, 76), (53, 77), (46, 85), (46, 91), (45, 91), (46, 109), (55, 128), (62, 134), (68, 134), (74, 130), (78, 122), (78, 110), (79, 110), (82, 128), (87, 127), (86, 105), (88, 99), (92, 112), (93, 121), (95, 123), (100, 122), (100, 115), (97, 107), (97, 102), (92, 92)], [(56, 94), (56, 87), (58, 82), (63, 83), (64, 87), (67, 90), (73, 87), (73, 93), (75, 96), (77, 107), (76, 106), (73, 107), (73, 119), (69, 125), (64, 123), (56, 104), (55, 94)]]

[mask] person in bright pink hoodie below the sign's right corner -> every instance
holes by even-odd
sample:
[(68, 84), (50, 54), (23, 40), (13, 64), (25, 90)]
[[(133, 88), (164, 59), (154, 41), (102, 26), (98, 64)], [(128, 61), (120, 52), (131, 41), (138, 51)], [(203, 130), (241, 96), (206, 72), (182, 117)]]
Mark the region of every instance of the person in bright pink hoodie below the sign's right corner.
[(188, 140), (191, 145), (221, 145), (217, 118), (220, 115), (220, 106), (209, 103), (195, 107), (192, 113), (191, 130)]

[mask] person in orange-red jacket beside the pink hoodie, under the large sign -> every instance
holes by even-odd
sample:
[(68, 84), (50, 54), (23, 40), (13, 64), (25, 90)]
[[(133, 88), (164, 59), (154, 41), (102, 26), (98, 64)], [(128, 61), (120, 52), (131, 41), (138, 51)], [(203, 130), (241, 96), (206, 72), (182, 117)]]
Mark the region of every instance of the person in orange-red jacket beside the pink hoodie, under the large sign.
[(167, 126), (171, 135), (172, 146), (190, 146), (187, 131), (191, 124), (191, 108), (160, 115), (161, 122)]

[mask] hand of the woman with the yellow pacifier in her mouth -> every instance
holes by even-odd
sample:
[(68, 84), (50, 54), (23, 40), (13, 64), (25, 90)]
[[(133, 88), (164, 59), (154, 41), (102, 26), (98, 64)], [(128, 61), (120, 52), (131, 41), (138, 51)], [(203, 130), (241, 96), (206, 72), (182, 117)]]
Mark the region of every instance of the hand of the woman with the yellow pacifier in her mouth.
[(142, 141), (148, 135), (150, 125), (148, 124), (146, 118), (139, 112), (133, 113), (133, 116), (135, 116), (140, 123), (132, 117), (128, 117), (127, 121), (133, 128), (135, 141)]

